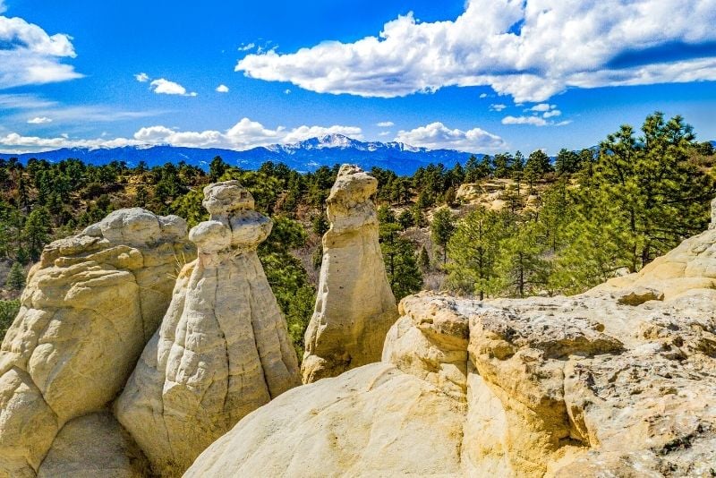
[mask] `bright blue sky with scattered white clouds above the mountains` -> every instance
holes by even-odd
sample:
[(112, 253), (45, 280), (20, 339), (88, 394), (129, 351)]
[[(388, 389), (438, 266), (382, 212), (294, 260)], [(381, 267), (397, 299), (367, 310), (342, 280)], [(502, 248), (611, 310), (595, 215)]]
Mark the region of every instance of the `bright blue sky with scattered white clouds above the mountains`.
[(555, 153), (655, 110), (713, 140), (716, 0), (674, 4), (0, 0), (0, 150), (341, 132)]

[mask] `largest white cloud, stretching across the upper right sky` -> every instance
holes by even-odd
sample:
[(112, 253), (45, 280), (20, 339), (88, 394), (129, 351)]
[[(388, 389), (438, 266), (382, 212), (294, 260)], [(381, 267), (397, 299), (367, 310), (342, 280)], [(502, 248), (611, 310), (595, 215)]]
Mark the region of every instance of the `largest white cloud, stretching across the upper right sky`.
[(716, 51), (669, 61), (653, 54), (716, 41), (714, 22), (716, 0), (468, 0), (455, 21), (408, 13), (377, 36), (257, 52), (235, 70), (321, 93), (392, 98), (489, 85), (517, 103), (541, 102), (568, 87), (716, 80)]

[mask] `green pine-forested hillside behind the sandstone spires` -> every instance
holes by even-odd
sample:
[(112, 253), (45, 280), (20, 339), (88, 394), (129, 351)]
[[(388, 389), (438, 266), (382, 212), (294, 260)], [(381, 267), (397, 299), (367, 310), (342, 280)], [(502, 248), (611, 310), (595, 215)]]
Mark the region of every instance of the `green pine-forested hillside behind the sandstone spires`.
[[(657, 113), (639, 132), (622, 126), (599, 148), (562, 149), (555, 162), (538, 150), (430, 165), (413, 176), (373, 168), (388, 279), (398, 299), (422, 288), (480, 298), (584, 291), (703, 230), (716, 195), (714, 161), (712, 144), (695, 141), (682, 118)], [(206, 218), (202, 187), (238, 179), (275, 221), (260, 259), (302, 349), (337, 166), (299, 174), (272, 162), (246, 171), (222, 158), (208, 172), (183, 163), (0, 159), (0, 337), (45, 244), (128, 207), (193, 226)]]

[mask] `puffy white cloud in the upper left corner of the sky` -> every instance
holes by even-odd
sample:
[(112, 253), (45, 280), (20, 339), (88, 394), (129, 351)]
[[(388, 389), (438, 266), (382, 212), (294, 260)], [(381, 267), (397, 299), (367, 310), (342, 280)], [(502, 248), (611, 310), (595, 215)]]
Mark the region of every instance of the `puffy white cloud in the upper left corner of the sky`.
[[(5, 10), (0, 1), (0, 13)], [(76, 56), (69, 35), (48, 35), (21, 18), (0, 16), (0, 90), (81, 78), (72, 65), (62, 63)]]

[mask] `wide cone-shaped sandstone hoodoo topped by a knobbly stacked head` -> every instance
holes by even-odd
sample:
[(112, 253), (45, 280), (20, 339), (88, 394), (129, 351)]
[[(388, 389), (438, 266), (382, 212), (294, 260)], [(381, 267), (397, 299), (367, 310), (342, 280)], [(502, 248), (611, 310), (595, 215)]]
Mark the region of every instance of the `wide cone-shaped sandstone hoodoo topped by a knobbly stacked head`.
[(301, 383), (258, 245), (271, 220), (235, 181), (204, 189), (211, 220), (192, 228), (198, 259), (176, 282), (160, 329), (115, 404), (120, 423), (163, 476), (244, 415)]

